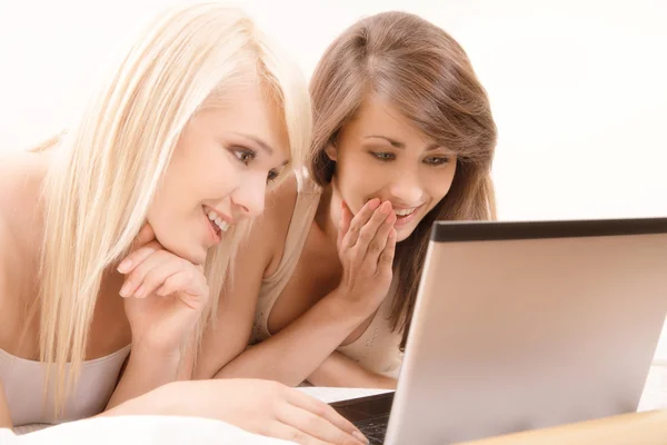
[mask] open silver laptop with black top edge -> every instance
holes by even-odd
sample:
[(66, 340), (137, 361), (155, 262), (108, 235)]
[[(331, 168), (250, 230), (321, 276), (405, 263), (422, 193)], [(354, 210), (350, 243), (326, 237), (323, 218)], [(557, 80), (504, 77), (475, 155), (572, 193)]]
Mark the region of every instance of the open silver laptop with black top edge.
[(438, 221), (396, 392), (332, 403), (387, 445), (636, 412), (667, 315), (667, 218)]

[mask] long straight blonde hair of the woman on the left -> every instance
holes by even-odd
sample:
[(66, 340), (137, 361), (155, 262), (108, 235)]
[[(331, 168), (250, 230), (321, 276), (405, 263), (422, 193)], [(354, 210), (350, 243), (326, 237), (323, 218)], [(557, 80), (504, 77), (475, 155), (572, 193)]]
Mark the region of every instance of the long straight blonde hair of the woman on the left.
[[(135, 40), (57, 144), (38, 148), (53, 146), (43, 190), (39, 348), (49, 375), (54, 370), (57, 416), (84, 359), (102, 275), (127, 254), (145, 222), (188, 120), (201, 107), (225, 102), (231, 88), (261, 82), (283, 110), (292, 161), (302, 158), (310, 138), (308, 89), (280, 52), (236, 8), (216, 1), (172, 8)], [(211, 298), (197, 345), (215, 318), (246, 229), (228, 231), (208, 255)]]

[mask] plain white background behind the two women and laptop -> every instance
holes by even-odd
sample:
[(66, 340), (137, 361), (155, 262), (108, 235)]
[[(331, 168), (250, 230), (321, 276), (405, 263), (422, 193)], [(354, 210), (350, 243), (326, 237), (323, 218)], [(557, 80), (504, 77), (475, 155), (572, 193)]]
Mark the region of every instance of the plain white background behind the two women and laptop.
[[(62, 128), (109, 52), (172, 2), (2, 0), (0, 151)], [(361, 16), (402, 9), (450, 32), (470, 56), (499, 127), (501, 219), (667, 216), (665, 0), (237, 3), (308, 77), (326, 46)], [(667, 358), (667, 338), (658, 356)]]

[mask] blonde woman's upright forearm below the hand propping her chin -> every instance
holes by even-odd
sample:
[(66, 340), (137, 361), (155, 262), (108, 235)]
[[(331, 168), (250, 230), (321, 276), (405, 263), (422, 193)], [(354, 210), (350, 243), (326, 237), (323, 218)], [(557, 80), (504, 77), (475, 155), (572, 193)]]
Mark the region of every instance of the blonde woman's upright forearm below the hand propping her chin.
[(107, 409), (177, 380), (180, 358), (178, 350), (171, 353), (132, 350), (128, 366), (107, 404)]

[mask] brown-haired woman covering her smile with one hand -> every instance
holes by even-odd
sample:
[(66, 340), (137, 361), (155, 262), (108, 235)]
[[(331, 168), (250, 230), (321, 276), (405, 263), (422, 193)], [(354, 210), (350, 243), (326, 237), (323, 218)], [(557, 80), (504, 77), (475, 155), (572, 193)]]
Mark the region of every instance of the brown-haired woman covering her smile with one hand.
[(196, 373), (394, 388), (434, 220), (495, 217), (489, 100), (456, 40), (398, 11), (345, 30), (310, 91), (308, 168), (268, 198)]

